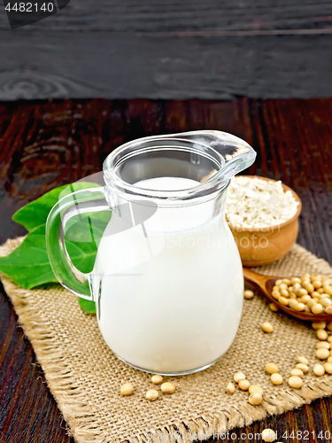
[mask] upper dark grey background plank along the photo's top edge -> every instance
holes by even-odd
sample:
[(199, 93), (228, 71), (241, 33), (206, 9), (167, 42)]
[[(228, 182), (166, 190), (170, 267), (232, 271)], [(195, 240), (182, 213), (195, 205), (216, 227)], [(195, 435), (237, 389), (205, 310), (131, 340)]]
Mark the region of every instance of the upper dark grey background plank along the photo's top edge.
[[(2, 5), (0, 12), (4, 9)], [(205, 32), (332, 27), (329, 0), (71, 0), (66, 8), (27, 30)], [(8, 29), (5, 14), (0, 29)]]

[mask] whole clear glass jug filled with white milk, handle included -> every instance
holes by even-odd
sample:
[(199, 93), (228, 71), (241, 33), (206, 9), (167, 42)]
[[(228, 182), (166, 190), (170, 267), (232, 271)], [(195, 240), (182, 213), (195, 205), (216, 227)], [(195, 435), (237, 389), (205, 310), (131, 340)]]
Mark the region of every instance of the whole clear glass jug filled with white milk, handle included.
[[(242, 313), (243, 269), (225, 199), (230, 178), (255, 157), (220, 131), (144, 137), (105, 159), (104, 187), (73, 192), (50, 211), (54, 274), (96, 302), (99, 329), (122, 361), (181, 375), (228, 351)], [(66, 223), (104, 210), (112, 217), (94, 268), (81, 273), (66, 252)]]

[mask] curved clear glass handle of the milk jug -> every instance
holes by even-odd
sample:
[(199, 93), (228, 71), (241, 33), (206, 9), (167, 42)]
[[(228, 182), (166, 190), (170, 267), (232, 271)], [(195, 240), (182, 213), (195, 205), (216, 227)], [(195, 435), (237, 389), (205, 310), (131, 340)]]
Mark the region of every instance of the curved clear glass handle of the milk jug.
[(82, 299), (93, 300), (90, 291), (91, 273), (83, 273), (73, 266), (66, 250), (66, 223), (77, 214), (110, 211), (104, 187), (76, 190), (61, 198), (52, 207), (46, 221), (46, 247), (50, 266), (60, 284)]

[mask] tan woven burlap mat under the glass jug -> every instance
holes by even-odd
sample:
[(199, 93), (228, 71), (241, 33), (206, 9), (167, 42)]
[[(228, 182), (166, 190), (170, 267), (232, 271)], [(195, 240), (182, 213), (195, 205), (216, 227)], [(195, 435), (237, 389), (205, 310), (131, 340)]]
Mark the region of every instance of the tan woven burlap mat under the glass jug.
[[(0, 255), (10, 253), (19, 241), (9, 240), (0, 247)], [(257, 270), (275, 276), (304, 272), (332, 276), (326, 261), (298, 245), (282, 260)], [(155, 387), (150, 376), (112, 354), (99, 333), (96, 317), (81, 311), (72, 293), (56, 284), (27, 291), (9, 278), (1, 278), (34, 346), (50, 392), (79, 443), (205, 439), (213, 432), (222, 434), (332, 394), (332, 376), (315, 377), (311, 370), (300, 390), (290, 389), (287, 378), (298, 355), (305, 355), (313, 367), (317, 338), (309, 324), (273, 313), (266, 299), (258, 295), (244, 301), (234, 344), (221, 361), (194, 375), (168, 377), (176, 391), (152, 402), (145, 399), (147, 389)], [(264, 321), (274, 324), (272, 334), (260, 330)], [(272, 385), (265, 372), (269, 361), (279, 366), (283, 385)], [(225, 386), (238, 370), (252, 384), (264, 388), (260, 406), (252, 407), (248, 392), (238, 388), (233, 395), (225, 393)], [(125, 382), (135, 385), (129, 397), (120, 395), (120, 385)]]

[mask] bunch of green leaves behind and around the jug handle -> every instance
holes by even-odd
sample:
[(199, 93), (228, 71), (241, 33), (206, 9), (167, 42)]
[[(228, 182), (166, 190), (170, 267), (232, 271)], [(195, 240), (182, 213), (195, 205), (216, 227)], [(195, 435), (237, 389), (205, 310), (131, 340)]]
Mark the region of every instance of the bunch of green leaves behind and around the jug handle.
[[(22, 288), (31, 289), (48, 283), (58, 283), (50, 268), (46, 251), (45, 225), (50, 209), (73, 190), (96, 188), (96, 183), (73, 183), (50, 190), (41, 198), (23, 206), (12, 217), (24, 226), (29, 234), (10, 255), (0, 258), (0, 271), (12, 278)], [(66, 249), (73, 265), (89, 273), (97, 256), (97, 247), (104, 229), (111, 219), (111, 211), (74, 215), (66, 224)], [(79, 298), (81, 308), (96, 313), (95, 302)]]

